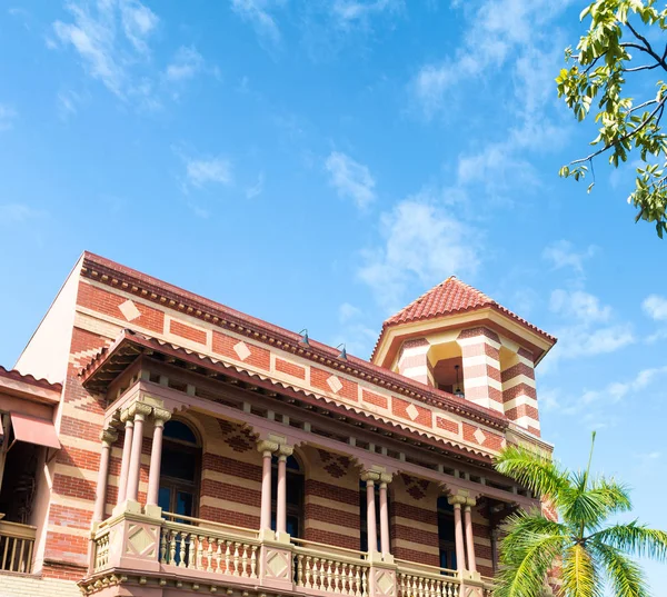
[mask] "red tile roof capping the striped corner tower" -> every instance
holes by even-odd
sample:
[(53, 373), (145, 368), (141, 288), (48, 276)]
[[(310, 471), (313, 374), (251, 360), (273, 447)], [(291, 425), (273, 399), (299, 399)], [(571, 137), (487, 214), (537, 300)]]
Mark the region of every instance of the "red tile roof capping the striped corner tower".
[(438, 286), (431, 288), (428, 292), (421, 295), (418, 299), (410, 302), (407, 307), (404, 307), (400, 311), (398, 311), (396, 315), (392, 315), (382, 324), (382, 331), (380, 332), (380, 337), (375, 346), (372, 357), (375, 357), (382, 337), (389, 327), (399, 326), (401, 324), (410, 324), (414, 321), (436, 319), (447, 315), (475, 311), (477, 309), (485, 308), (500, 311), (521, 326), (539, 334), (550, 342), (556, 342), (556, 337), (547, 334), (537, 326), (534, 326), (506, 307), (502, 307), (484, 292), (465, 282), (461, 282), (456, 276), (450, 276), (444, 282), (440, 282)]

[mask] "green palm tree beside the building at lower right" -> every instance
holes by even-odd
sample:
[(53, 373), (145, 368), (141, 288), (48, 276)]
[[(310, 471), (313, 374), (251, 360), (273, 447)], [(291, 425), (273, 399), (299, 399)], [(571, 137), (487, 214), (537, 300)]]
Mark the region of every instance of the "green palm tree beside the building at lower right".
[(639, 524), (610, 524), (610, 516), (631, 509), (628, 488), (613, 478), (570, 471), (546, 454), (509, 446), (496, 469), (512, 477), (556, 508), (558, 520), (539, 510), (509, 517), (500, 545), (495, 597), (542, 595), (547, 573), (560, 568), (564, 597), (601, 597), (605, 580), (617, 597), (648, 597), (639, 565), (630, 556), (667, 560), (667, 533)]

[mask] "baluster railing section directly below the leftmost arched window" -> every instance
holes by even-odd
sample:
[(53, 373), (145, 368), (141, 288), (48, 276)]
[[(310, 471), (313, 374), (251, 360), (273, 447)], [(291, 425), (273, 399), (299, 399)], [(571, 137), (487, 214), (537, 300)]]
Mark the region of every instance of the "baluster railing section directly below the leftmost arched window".
[(258, 578), (256, 530), (165, 513), (160, 564), (238, 578)]

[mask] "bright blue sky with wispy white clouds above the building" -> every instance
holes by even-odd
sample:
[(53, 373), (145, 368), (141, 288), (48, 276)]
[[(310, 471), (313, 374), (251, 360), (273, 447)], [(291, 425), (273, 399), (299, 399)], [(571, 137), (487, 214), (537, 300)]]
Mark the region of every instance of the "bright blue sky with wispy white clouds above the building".
[[(544, 438), (667, 529), (667, 240), (554, 79), (569, 0), (0, 8), (0, 364), (90, 250), (368, 357), (450, 275), (559, 338)], [(656, 596), (667, 566), (647, 565)]]

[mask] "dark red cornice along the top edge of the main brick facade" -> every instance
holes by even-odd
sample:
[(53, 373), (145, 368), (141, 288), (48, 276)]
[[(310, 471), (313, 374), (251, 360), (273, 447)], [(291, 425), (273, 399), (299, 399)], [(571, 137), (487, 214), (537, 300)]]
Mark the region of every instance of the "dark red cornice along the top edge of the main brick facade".
[[(298, 334), (225, 307), (92, 253), (84, 253), (81, 276), (99, 283), (118, 288), (123, 292), (138, 296), (143, 300), (156, 302), (162, 307), (168, 307), (190, 317), (201, 319), (218, 328), (247, 336), (255, 341), (276, 346), (281, 350), (292, 352), (320, 366), (323, 365), (332, 369), (338, 369), (351, 377), (384, 387), (389, 391), (415, 398), (421, 402), (461, 415), (490, 427), (498, 429), (507, 427), (507, 419), (504, 415), (498, 415), (490, 409), (466, 402), (464, 399), (442, 390), (429, 388), (351, 355), (348, 355), (347, 360), (344, 361), (338, 358), (338, 349), (321, 342), (310, 340), (310, 346), (303, 346), (300, 342), (301, 337)], [(94, 359), (82, 370), (82, 375), (86, 376), (87, 371), (92, 367), (94, 367)]]

